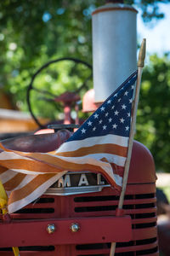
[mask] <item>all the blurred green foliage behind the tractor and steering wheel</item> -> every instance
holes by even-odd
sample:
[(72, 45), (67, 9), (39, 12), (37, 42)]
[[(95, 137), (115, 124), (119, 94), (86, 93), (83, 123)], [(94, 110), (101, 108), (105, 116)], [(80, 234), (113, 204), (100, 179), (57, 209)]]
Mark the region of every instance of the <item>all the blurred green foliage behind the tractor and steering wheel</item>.
[[(105, 0), (3, 0), (0, 3), (0, 89), (11, 98), (14, 108), (28, 111), (26, 90), (31, 77), (48, 61), (75, 57), (92, 63), (91, 14)], [(163, 18), (159, 3), (170, 0), (125, 0), (142, 11), (145, 22)], [(169, 171), (170, 60), (165, 55), (150, 57), (144, 68), (136, 138), (150, 148), (156, 168)], [(37, 90), (59, 96), (82, 86), (90, 70), (82, 64), (60, 61), (42, 70), (34, 81)], [(92, 87), (92, 80), (82, 94)], [(46, 95), (47, 96), (47, 95)], [(31, 91), (34, 113), (59, 118), (59, 104), (42, 101), (43, 94)]]

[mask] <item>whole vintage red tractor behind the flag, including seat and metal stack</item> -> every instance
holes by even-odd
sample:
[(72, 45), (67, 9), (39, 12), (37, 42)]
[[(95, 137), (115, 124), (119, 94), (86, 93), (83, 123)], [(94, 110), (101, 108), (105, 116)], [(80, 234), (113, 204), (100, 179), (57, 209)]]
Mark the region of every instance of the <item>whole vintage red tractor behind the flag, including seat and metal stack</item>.
[[(103, 15), (102, 19), (107, 19), (106, 12), (111, 15), (111, 11), (115, 11), (116, 14), (121, 11), (124, 14), (129, 13), (132, 15), (130, 20), (134, 24), (133, 21), (137, 14), (136, 10), (131, 7), (127, 8), (127, 6), (123, 9), (122, 3), (120, 6), (111, 6), (110, 2), (111, 1), (109, 1), (109, 5), (107, 5), (106, 8), (104, 7), (103, 9), (95, 11), (94, 16), (96, 15), (97, 17), (97, 15), (101, 14)], [(96, 20), (96, 22), (98, 21), (99, 19)], [(121, 21), (123, 24), (127, 25), (127, 21), (120, 19), (120, 22)], [(94, 29), (97, 25), (97, 23), (94, 24)], [(101, 22), (100, 25), (103, 26), (105, 24)], [(118, 25), (117, 23), (117, 29), (119, 27)], [(108, 29), (108, 27), (109, 26), (105, 26), (105, 30)], [(99, 39), (98, 32), (99, 30), (96, 30), (95, 36), (97, 39)], [(105, 31), (102, 30), (102, 32)], [(129, 33), (130, 31), (127, 29), (124, 32)], [(122, 36), (123, 33), (120, 32), (120, 34)], [(111, 38), (110, 36), (111, 33), (108, 33), (108, 39)], [(105, 38), (104, 36), (101, 37), (101, 41)], [(116, 37), (113, 35), (113, 39), (115, 38)], [(127, 47), (129, 46), (130, 50), (127, 49), (126, 52), (129, 54), (131, 53), (131, 49), (133, 49), (133, 59), (136, 60), (136, 46), (133, 47), (132, 42), (127, 42), (132, 38), (134, 44), (136, 44), (135, 35), (131, 37), (129, 34), (126, 40), (122, 40), (121, 42), (123, 44), (125, 41), (126, 44), (129, 43)], [(106, 44), (103, 41), (99, 42), (99, 40), (97, 40), (97, 43), (101, 43), (101, 45), (98, 45), (96, 48), (94, 45), (94, 50), (98, 49), (98, 51), (94, 53), (94, 59), (98, 53), (101, 59), (103, 52), (99, 50), (99, 47), (102, 46), (102, 44)], [(115, 42), (115, 44), (117, 43)], [(110, 45), (111, 49), (115, 49), (112, 42)], [(105, 47), (105, 49), (107, 49), (107, 47)], [(111, 49), (107, 49), (108, 55), (106, 59), (108, 62), (105, 63), (104, 61), (100, 63), (103, 65), (105, 72), (101, 72), (99, 75), (107, 73), (106, 79), (109, 78), (109, 68), (115, 72), (114, 76), (116, 76), (118, 71), (122, 72), (123, 69), (120, 68), (117, 63), (117, 69), (114, 67), (114, 63), (110, 64), (109, 57), (111, 55)], [(120, 54), (116, 48), (116, 51), (114, 53), (112, 52), (114, 58), (111, 57), (111, 61), (118, 61), (118, 58), (115, 57), (116, 52), (118, 56), (123, 55), (123, 58), (126, 59), (122, 61), (123, 65), (127, 64), (126, 68), (129, 67), (130, 61), (128, 58), (132, 60), (132, 55), (125, 56), (123, 51)], [(107, 53), (105, 53), (104, 56), (106, 56), (106, 54)], [(95, 59), (95, 61), (96, 60), (97, 59)], [(48, 64), (44, 67), (48, 67)], [(97, 60), (96, 65), (94, 65), (94, 77), (95, 74), (98, 73), (98, 64), (99, 61)], [(132, 68), (133, 66), (136, 67), (135, 63), (133, 64)], [(124, 70), (126, 70), (126, 68), (124, 67)], [(41, 70), (42, 68), (39, 69), (37, 73)], [(127, 73), (129, 72), (131, 71), (127, 70)], [(37, 73), (31, 80), (28, 91), (28, 101), (30, 91), (33, 89), (32, 83)], [(119, 79), (122, 79), (121, 75), (119, 76), (118, 74)], [(127, 76), (127, 74), (124, 75)], [(101, 79), (98, 79), (98, 82), (102, 84)], [(114, 79), (110, 80), (112, 84)], [(105, 84), (108, 83), (105, 82), (102, 85), (105, 86)], [(99, 83), (97, 83), (97, 85), (98, 84)], [(99, 99), (102, 94), (102, 90), (99, 90)], [(92, 96), (91, 93), (88, 93), (88, 96)], [(71, 124), (71, 100), (77, 102), (79, 98), (73, 94), (67, 93), (62, 97), (55, 97), (55, 102), (64, 102), (65, 112), (64, 125), (59, 126), (58, 122), (57, 125), (50, 126), (50, 128), (56, 130), (56, 133), (13, 138), (7, 140), (4, 144), (8, 148), (25, 152), (48, 152), (54, 150), (68, 137), (69, 131), (63, 131), (63, 128), (70, 131), (77, 128), (77, 126)], [(90, 103), (89, 98), (86, 98), (86, 101)], [(88, 108), (88, 103), (85, 104), (85, 107), (93, 111), (94, 108), (96, 108), (95, 104), (90, 106), (92, 108)], [(30, 102), (29, 107), (31, 110)], [(76, 123), (77, 122), (78, 120)], [(116, 256), (158, 256), (156, 171), (150, 151), (139, 142), (133, 142), (133, 153), (123, 211), (121, 215), (116, 216), (119, 197), (120, 193), (112, 188), (99, 173), (96, 174), (85, 171), (68, 172), (64, 177), (61, 177), (59, 181), (54, 183), (44, 195), (36, 201), (31, 202), (28, 206), (20, 209), (18, 212), (11, 214), (10, 218), (3, 218), (1, 215), (0, 255), (13, 255), (11, 247), (19, 247), (20, 255), (23, 256), (109, 256), (111, 242), (114, 241), (116, 242)]]

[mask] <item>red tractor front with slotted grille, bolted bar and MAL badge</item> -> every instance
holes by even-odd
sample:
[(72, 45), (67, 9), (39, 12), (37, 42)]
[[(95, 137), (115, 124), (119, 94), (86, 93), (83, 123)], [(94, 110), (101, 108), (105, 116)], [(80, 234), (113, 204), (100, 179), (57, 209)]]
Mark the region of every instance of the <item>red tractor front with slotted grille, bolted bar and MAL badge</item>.
[[(23, 256), (109, 256), (111, 241), (116, 241), (116, 256), (159, 255), (156, 173), (144, 145), (133, 143), (120, 217), (119, 193), (104, 177), (90, 172), (68, 175), (70, 183), (63, 177), (37, 201), (11, 214), (10, 223), (2, 217), (0, 255), (13, 255), (10, 247), (19, 246)], [(82, 177), (88, 183), (80, 184)]]

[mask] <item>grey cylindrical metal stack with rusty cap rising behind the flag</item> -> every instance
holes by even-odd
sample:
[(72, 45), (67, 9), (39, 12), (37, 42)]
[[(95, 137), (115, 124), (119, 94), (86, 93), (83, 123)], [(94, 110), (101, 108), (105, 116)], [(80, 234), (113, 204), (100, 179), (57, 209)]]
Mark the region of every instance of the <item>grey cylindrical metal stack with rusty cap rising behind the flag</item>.
[(137, 67), (137, 10), (123, 1), (107, 1), (94, 10), (94, 102), (104, 102)]

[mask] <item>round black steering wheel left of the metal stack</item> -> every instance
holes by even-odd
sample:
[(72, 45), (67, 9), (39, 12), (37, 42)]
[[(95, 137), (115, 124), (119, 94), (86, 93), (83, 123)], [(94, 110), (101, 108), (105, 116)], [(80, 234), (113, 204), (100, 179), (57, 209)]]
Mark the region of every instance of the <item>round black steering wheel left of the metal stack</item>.
[[(40, 73), (42, 73), (42, 71), (44, 71), (45, 69), (47, 69), (51, 64), (54, 64), (56, 62), (59, 62), (59, 61), (71, 61), (72, 63), (74, 63), (74, 66), (70, 67), (71, 69), (71, 73), (74, 73), (74, 76), (79, 76), (79, 74), (75, 74), (75, 70), (74, 68), (76, 67), (76, 65), (81, 65), (84, 66), (87, 70), (89, 69), (90, 70), (90, 74), (88, 74), (88, 76), (84, 79), (83, 78), (83, 81), (82, 81), (82, 84), (76, 89), (76, 90), (73, 90), (73, 91), (66, 91), (64, 92), (63, 94), (61, 94), (60, 96), (54, 94), (54, 92), (52, 91), (49, 91), (49, 90), (43, 90), (42, 88), (38, 88), (38, 86), (35, 86), (35, 79), (37, 78), (37, 75), (39, 75)], [(59, 59), (56, 59), (56, 60), (53, 60), (53, 61), (48, 61), (46, 64), (44, 64), (42, 67), (40, 67), (36, 73), (34, 73), (31, 77), (31, 83), (29, 84), (28, 86), (28, 89), (27, 89), (27, 93), (26, 93), (26, 102), (28, 104), (28, 108), (29, 108), (29, 111), (31, 113), (31, 116), (32, 118), (35, 120), (35, 122), (37, 123), (37, 125), (40, 127), (40, 128), (47, 128), (47, 125), (43, 125), (42, 122), (40, 122), (39, 119), (37, 119), (37, 114), (33, 113), (33, 108), (32, 108), (32, 102), (31, 102), (31, 92), (34, 90), (34, 104), (35, 104), (35, 101), (37, 101), (37, 103), (41, 102), (41, 101), (45, 101), (46, 102), (46, 105), (45, 107), (43, 108), (44, 111), (47, 112), (47, 105), (48, 103), (54, 105), (54, 108), (55, 109), (58, 109), (59, 111), (59, 104), (58, 102), (63, 102), (64, 103), (64, 107), (65, 106), (69, 106), (71, 107), (71, 103), (72, 102), (77, 102), (79, 100), (79, 96), (78, 94), (80, 93), (80, 91), (82, 89), (86, 89), (88, 90), (88, 80), (92, 79), (92, 71), (93, 71), (93, 68), (92, 68), (92, 65), (88, 64), (88, 62), (86, 61), (81, 61), (77, 58), (71, 58), (71, 57), (65, 57), (65, 58), (59, 58)], [(46, 70), (47, 72), (47, 70)], [(79, 72), (80, 72), (80, 69), (79, 69)], [(53, 71), (52, 74), (56, 73), (56, 71)], [(87, 72), (86, 72), (87, 73)], [(89, 72), (88, 72), (89, 73)], [(71, 76), (71, 74), (70, 74)], [(50, 83), (48, 83), (48, 86), (49, 86)], [(79, 83), (80, 84), (80, 83)], [(57, 85), (58, 86), (58, 85)], [(60, 88), (60, 85), (58, 86)], [(38, 97), (36, 100), (35, 100), (35, 97), (37, 97), (37, 94), (41, 95), (40, 97)], [(40, 107), (42, 109), (42, 107)], [(65, 110), (65, 108), (64, 108)], [(61, 111), (61, 107), (60, 107), (60, 111)], [(42, 110), (43, 112), (43, 110)], [(52, 111), (50, 111), (52, 112)]]

